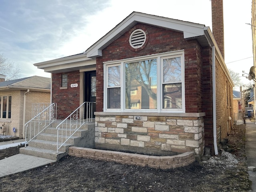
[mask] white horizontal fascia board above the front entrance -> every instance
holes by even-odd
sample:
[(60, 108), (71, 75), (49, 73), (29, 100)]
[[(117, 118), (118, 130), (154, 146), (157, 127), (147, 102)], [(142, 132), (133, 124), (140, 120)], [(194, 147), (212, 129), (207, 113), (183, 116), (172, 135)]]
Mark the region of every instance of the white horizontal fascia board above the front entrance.
[(46, 67), (83, 62), (87, 60), (92, 60), (92, 59), (88, 58), (86, 54), (81, 54), (81, 55), (68, 56), (68, 57), (58, 58), (58, 59), (49, 60), (45, 62), (35, 63), (34, 66), (36, 66), (39, 69), (44, 69)]

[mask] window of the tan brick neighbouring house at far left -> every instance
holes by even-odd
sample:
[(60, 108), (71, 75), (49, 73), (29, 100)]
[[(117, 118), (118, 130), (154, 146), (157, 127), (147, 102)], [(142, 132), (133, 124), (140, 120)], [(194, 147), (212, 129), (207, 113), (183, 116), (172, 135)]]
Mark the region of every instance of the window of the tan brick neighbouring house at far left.
[(0, 118), (10, 119), (12, 109), (12, 96), (0, 96)]

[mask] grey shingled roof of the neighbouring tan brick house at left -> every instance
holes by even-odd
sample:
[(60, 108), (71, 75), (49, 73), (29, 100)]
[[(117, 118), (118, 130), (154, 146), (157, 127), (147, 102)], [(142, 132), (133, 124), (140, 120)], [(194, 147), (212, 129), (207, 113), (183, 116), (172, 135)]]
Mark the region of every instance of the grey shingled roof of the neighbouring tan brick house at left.
[(25, 77), (10, 81), (0, 82), (1, 90), (38, 90), (38, 91), (49, 91), (51, 89), (51, 79), (40, 76)]

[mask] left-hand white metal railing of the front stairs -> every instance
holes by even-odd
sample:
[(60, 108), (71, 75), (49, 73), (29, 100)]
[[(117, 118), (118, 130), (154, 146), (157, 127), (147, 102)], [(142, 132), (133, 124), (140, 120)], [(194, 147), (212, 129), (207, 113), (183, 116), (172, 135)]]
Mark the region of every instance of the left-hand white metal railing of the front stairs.
[(57, 104), (52, 103), (24, 125), (25, 147), (28, 142), (36, 138), (38, 134), (56, 121), (56, 112)]

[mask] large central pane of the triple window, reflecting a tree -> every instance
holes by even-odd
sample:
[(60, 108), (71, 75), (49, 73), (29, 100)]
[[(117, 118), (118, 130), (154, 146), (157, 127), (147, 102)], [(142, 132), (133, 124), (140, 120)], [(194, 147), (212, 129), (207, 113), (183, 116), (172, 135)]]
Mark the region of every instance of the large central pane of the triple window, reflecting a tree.
[[(126, 109), (156, 109), (156, 81), (156, 59), (126, 63)], [(136, 90), (136, 94), (134, 90)]]

